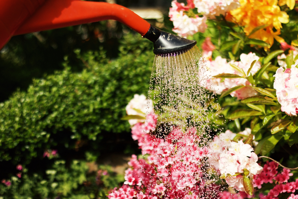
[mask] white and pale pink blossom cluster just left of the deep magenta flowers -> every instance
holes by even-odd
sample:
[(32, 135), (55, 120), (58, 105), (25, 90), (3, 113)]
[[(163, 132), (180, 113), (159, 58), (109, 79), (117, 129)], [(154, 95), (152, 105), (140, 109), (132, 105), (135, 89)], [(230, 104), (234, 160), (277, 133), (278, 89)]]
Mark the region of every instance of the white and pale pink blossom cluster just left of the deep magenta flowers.
[[(231, 142), (228, 151), (221, 152), (219, 159), (219, 171), (224, 175), (227, 184), (237, 191), (244, 191), (243, 169), (249, 171), (249, 177), (259, 174), (263, 168), (258, 165), (257, 155), (252, 152), (254, 149), (242, 140)], [(237, 175), (240, 173), (239, 175)]]

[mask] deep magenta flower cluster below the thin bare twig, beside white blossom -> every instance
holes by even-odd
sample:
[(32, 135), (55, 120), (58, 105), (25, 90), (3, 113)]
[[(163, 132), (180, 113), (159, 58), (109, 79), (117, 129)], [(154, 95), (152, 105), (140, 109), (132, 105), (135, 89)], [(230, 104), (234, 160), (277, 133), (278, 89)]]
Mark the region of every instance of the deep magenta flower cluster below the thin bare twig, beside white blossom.
[(288, 182), (290, 176), (293, 175), (290, 173), (290, 170), (284, 168), (283, 171), (278, 174), (277, 168), (277, 163), (267, 161), (264, 165), (263, 171), (260, 174), (254, 175), (252, 179), (254, 187), (261, 189), (263, 183), (273, 183), (273, 180), (275, 183), (279, 184)]

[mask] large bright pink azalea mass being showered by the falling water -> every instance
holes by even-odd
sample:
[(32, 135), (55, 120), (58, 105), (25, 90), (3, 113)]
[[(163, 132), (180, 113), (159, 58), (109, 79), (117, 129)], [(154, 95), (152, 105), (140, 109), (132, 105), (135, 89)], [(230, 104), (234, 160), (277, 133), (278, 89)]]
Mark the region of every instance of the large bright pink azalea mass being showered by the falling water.
[(132, 137), (138, 140), (144, 156), (138, 159), (132, 155), (130, 168), (125, 171), (125, 185), (115, 188), (108, 198), (198, 199), (214, 195), (218, 187), (205, 184), (209, 179), (206, 170), (209, 151), (199, 146), (195, 129), (182, 133), (175, 127), (162, 139), (152, 135), (155, 125), (156, 116), (151, 113), (145, 124), (132, 127)]

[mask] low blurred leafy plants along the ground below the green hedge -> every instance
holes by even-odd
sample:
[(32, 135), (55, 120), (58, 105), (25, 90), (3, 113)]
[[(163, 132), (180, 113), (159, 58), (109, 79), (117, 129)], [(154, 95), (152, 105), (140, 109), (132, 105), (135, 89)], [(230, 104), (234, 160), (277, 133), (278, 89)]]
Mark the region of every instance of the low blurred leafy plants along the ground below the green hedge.
[(0, 183), (1, 199), (28, 198), (105, 198), (110, 189), (124, 181), (109, 166), (100, 165), (97, 173), (90, 173), (85, 161), (74, 160), (69, 168), (65, 161), (55, 161), (52, 168), (46, 170), (46, 176), (40, 173), (27, 174), (23, 169), (21, 178), (12, 176), (6, 180), (10, 184)]

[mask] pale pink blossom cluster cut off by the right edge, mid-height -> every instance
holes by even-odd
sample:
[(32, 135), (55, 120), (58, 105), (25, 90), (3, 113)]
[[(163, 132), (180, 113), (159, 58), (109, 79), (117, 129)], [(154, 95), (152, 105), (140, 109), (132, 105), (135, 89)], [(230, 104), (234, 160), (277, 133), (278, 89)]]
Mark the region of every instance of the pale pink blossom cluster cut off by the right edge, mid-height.
[(281, 111), (289, 116), (298, 113), (298, 60), (291, 68), (280, 67), (276, 70), (273, 87), (276, 90), (278, 102), (281, 104)]

